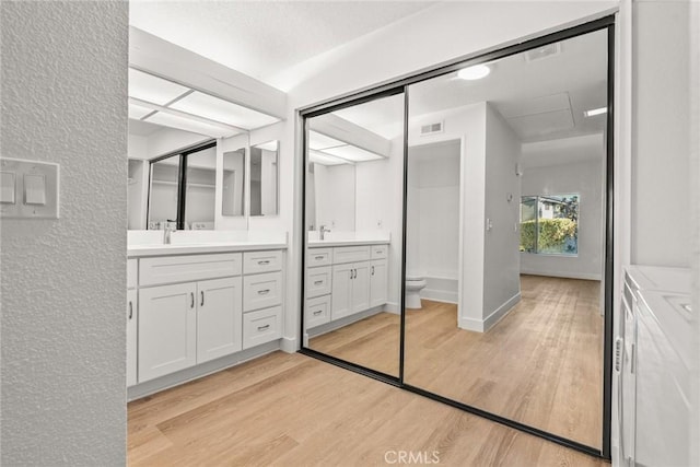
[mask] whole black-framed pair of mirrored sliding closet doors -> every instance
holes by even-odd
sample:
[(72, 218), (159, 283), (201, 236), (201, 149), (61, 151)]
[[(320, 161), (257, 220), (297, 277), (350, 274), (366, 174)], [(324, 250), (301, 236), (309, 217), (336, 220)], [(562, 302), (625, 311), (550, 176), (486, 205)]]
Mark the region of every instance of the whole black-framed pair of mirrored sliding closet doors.
[(609, 458), (612, 20), (302, 112), (303, 351)]

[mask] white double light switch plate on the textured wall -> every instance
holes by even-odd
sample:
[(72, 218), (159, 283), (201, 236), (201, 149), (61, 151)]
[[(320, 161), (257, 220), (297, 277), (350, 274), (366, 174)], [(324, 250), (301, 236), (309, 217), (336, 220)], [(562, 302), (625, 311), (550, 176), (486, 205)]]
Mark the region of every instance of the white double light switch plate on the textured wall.
[[(60, 174), (58, 164), (0, 157), (0, 172), (14, 174), (15, 184), (14, 203), (0, 203), (1, 218), (58, 219)], [(4, 180), (2, 189), (4, 200)]]

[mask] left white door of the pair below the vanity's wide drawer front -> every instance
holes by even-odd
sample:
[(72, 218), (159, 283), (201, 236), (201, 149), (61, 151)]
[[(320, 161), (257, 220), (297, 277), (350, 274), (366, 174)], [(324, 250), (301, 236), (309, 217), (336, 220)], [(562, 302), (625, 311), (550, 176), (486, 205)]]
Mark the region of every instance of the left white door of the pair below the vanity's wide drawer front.
[(195, 364), (196, 283), (139, 290), (139, 382)]

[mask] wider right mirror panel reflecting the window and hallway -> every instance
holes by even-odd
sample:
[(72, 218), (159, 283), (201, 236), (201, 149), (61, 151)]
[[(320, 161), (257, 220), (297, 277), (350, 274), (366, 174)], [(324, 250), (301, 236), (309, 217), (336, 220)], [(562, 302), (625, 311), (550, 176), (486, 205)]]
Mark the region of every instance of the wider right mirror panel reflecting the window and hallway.
[(406, 384), (596, 448), (607, 49), (598, 31), (408, 93)]

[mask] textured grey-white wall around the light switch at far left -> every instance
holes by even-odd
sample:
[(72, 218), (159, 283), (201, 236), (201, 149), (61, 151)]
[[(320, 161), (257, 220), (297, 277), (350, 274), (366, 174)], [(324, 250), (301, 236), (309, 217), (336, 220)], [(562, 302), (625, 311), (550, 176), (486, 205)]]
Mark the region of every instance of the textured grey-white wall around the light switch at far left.
[(0, 2), (2, 155), (61, 165), (1, 229), (1, 460), (125, 464), (128, 4)]

